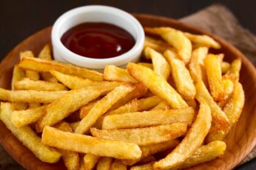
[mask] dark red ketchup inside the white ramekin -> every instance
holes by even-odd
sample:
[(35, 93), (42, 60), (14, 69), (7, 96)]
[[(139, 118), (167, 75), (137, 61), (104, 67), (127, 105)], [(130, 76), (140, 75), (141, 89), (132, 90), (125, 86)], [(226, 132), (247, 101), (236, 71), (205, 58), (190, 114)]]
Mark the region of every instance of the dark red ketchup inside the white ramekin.
[(128, 52), (135, 39), (126, 30), (103, 22), (85, 22), (62, 35), (63, 45), (89, 58), (111, 58)]

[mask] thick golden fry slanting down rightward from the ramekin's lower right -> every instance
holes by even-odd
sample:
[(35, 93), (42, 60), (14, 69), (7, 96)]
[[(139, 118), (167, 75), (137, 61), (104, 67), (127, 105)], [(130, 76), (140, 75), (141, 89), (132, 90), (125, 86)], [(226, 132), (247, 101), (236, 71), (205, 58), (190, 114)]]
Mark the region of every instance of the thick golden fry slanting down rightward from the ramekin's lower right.
[(180, 97), (176, 90), (153, 70), (134, 63), (127, 64), (127, 70), (132, 77), (143, 83), (151, 92), (166, 100), (172, 108), (188, 107), (188, 104)]

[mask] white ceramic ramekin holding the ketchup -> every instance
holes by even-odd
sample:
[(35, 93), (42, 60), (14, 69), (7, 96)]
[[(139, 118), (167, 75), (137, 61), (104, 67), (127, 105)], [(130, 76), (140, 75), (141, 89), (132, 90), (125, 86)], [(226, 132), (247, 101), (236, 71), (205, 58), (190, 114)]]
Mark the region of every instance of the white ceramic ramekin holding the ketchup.
[[(135, 38), (135, 45), (128, 52), (113, 58), (96, 59), (77, 55), (68, 50), (60, 41), (63, 33), (83, 22), (107, 22), (123, 28)], [(52, 27), (52, 46), (54, 59), (89, 69), (104, 69), (113, 64), (124, 67), (128, 62), (138, 61), (144, 44), (144, 31), (140, 22), (123, 10), (103, 5), (88, 5), (69, 10), (55, 21)]]

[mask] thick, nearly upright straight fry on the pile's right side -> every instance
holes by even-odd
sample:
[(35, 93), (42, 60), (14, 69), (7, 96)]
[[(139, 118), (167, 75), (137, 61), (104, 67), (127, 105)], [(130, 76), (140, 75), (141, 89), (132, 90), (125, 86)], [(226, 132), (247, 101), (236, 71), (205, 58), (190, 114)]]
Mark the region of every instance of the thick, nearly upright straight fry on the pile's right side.
[(210, 93), (215, 101), (224, 100), (224, 87), (221, 77), (221, 62), (217, 55), (207, 55), (204, 59)]

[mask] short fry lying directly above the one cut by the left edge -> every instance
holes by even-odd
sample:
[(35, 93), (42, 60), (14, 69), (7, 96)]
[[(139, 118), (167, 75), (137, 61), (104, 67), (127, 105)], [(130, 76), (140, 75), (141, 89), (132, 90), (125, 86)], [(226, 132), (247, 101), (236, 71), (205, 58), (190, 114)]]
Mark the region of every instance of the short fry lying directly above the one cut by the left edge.
[(14, 84), (17, 90), (38, 90), (38, 91), (60, 91), (68, 90), (66, 86), (60, 83), (51, 83), (48, 81), (41, 80), (30, 80), (29, 78), (24, 78)]

